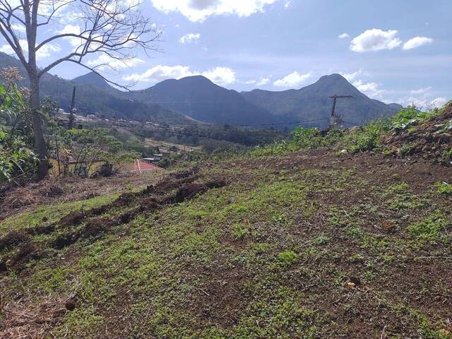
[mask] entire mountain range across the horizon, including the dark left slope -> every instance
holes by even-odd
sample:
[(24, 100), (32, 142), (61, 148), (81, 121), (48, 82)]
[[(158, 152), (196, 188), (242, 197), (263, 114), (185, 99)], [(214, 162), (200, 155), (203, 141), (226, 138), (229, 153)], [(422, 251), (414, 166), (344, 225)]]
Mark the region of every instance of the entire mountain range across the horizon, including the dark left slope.
[[(25, 75), (17, 59), (0, 53), (0, 68), (7, 66), (16, 66)], [(74, 85), (76, 107), (82, 113), (168, 123), (196, 120), (209, 124), (283, 125), (302, 121), (299, 124), (303, 126), (323, 128), (329, 124), (331, 95), (352, 96), (338, 100), (336, 106), (336, 112), (350, 125), (386, 117), (401, 108), (398, 104), (386, 105), (370, 99), (340, 74), (323, 76), (299, 90), (242, 93), (215, 85), (203, 76), (165, 80), (145, 90), (122, 91), (95, 73), (71, 81), (47, 74), (41, 81), (41, 94), (49, 95), (66, 108)]]

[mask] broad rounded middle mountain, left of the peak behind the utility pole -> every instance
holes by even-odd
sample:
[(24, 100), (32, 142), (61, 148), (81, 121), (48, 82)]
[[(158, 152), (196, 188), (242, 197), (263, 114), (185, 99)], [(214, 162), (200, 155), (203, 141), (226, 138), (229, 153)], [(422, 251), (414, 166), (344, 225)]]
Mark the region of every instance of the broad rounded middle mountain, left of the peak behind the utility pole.
[(283, 121), (248, 102), (235, 90), (215, 85), (203, 76), (166, 80), (146, 90), (126, 93), (141, 102), (156, 102), (174, 112), (211, 124), (272, 124)]

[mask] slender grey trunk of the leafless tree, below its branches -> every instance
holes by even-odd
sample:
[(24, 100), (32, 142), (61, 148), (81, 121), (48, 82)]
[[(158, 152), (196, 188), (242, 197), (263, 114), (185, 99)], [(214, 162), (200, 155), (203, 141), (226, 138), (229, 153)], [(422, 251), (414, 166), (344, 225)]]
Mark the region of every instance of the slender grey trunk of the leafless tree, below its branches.
[(37, 179), (41, 180), (47, 176), (47, 172), (49, 171), (49, 162), (47, 160), (47, 145), (42, 131), (40, 84), (36, 72), (30, 72), (28, 76), (30, 77), (30, 108), (32, 112), (35, 148), (40, 159), (40, 165), (37, 170)]

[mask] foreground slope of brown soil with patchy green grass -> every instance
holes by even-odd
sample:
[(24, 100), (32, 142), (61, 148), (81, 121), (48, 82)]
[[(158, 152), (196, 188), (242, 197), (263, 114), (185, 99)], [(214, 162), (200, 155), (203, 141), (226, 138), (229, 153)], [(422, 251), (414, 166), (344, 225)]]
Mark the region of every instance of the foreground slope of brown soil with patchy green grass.
[(451, 338), (450, 181), (422, 157), (321, 148), (6, 219), (0, 334)]

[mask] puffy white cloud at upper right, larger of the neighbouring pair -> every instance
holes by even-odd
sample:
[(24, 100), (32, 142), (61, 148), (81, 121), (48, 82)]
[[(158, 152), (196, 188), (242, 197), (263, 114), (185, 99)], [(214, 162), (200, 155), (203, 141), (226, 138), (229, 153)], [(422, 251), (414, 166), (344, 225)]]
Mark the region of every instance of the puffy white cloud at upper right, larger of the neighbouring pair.
[(350, 49), (353, 52), (370, 52), (370, 51), (380, 51), (382, 49), (394, 49), (400, 44), (400, 40), (396, 35), (397, 30), (379, 30), (372, 29), (366, 30), (362, 34), (353, 38), (350, 44)]

